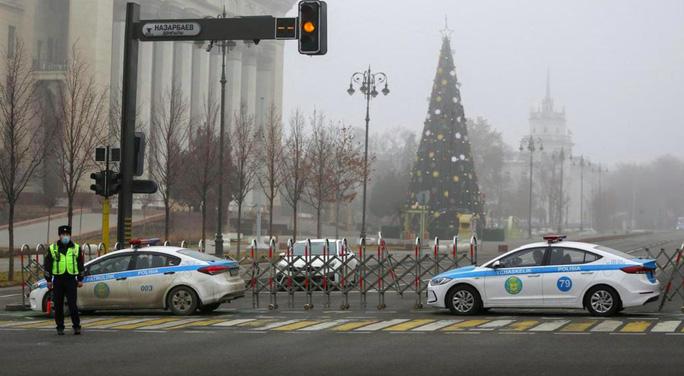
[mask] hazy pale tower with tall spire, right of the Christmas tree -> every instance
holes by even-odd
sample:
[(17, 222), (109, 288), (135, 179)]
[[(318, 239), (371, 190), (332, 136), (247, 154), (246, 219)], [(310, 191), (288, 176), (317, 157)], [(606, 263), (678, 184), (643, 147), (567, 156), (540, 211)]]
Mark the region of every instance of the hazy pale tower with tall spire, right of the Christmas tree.
[(572, 133), (565, 123), (565, 109), (557, 111), (551, 98), (551, 77), (546, 71), (546, 96), (541, 105), (530, 111), (530, 134), (541, 139), (544, 150), (555, 153), (561, 148), (572, 154)]

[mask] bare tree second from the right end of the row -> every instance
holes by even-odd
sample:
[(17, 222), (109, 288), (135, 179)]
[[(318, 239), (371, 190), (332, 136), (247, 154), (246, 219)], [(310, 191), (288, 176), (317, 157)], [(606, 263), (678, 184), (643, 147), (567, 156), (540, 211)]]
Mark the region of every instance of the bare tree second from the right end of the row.
[(304, 200), (316, 211), (316, 237), (321, 237), (321, 211), (325, 202), (333, 201), (335, 187), (331, 184), (332, 127), (324, 125), (325, 116), (314, 110), (311, 119), (311, 140), (308, 144), (310, 175), (304, 188)]

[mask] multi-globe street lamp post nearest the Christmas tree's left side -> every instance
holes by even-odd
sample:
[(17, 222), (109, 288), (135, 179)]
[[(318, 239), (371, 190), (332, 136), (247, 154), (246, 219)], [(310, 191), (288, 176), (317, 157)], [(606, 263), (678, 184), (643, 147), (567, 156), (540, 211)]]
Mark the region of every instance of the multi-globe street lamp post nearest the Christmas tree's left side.
[(368, 184), (368, 125), (370, 123), (370, 100), (371, 98), (378, 96), (376, 87), (382, 84), (385, 84), (385, 87), (382, 89), (382, 94), (389, 94), (387, 75), (382, 72), (373, 73), (370, 66), (368, 66), (367, 70), (352, 74), (349, 82), (349, 89), (347, 89), (347, 93), (353, 95), (356, 91), (354, 86), (358, 87), (366, 99), (366, 137), (363, 151), (363, 211), (361, 214), (361, 240), (364, 244), (366, 241), (366, 188)]

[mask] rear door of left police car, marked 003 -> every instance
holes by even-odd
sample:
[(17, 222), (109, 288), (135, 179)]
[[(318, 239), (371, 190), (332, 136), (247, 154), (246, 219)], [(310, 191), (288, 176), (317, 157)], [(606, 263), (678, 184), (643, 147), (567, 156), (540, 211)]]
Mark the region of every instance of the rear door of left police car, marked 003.
[(158, 252), (136, 251), (129, 288), (133, 308), (163, 308), (164, 293), (173, 283), (180, 258)]

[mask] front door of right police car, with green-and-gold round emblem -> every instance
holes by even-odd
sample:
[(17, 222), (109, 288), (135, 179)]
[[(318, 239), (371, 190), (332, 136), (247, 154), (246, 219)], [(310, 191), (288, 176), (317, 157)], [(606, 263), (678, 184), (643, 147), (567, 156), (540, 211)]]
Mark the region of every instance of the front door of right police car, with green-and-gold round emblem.
[(544, 299), (540, 268), (545, 252), (546, 247), (528, 248), (499, 259), (500, 266), (492, 268), (493, 273), (485, 276), (485, 305), (542, 306)]

